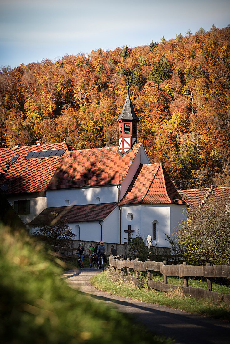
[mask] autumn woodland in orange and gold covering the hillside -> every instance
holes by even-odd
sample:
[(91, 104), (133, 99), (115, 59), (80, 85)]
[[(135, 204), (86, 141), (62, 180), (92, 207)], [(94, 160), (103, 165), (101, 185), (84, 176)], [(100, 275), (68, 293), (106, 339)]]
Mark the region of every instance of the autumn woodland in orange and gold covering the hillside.
[(128, 79), (151, 162), (180, 189), (230, 186), (230, 25), (1, 68), (1, 147), (117, 145)]

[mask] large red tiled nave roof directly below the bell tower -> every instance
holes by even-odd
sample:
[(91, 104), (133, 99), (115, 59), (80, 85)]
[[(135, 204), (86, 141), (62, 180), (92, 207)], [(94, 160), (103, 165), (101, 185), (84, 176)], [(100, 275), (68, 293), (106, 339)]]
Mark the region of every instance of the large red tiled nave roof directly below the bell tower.
[(47, 190), (120, 184), (126, 176), (141, 143), (120, 157), (118, 147), (66, 152)]

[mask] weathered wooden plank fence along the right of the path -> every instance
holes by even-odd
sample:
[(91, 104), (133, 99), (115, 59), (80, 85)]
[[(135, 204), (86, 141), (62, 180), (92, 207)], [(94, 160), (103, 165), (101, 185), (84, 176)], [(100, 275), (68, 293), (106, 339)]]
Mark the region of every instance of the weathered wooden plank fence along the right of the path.
[[(109, 257), (109, 264), (112, 268), (119, 272), (123, 280), (133, 281), (138, 287), (148, 286), (149, 288), (157, 289), (160, 291), (181, 290), (184, 295), (202, 299), (211, 298), (214, 302), (224, 301), (230, 304), (230, 294), (220, 294), (212, 291), (212, 278), (226, 277), (230, 279), (230, 266), (228, 265), (213, 265), (210, 264), (202, 266), (187, 265), (186, 262), (177, 265), (167, 265), (166, 261), (156, 262), (148, 259), (141, 262), (139, 259), (130, 260), (127, 258), (116, 259)], [(123, 269), (127, 268), (127, 275), (124, 276)], [(136, 272), (136, 278), (130, 275), (130, 269)], [(139, 279), (139, 271), (147, 271), (147, 280)], [(151, 271), (160, 271), (163, 275), (164, 282), (152, 280)], [(168, 284), (168, 276), (176, 276), (184, 279), (184, 286), (177, 286), (175, 284)], [(189, 277), (204, 277), (207, 279), (207, 288), (194, 288), (188, 286)]]

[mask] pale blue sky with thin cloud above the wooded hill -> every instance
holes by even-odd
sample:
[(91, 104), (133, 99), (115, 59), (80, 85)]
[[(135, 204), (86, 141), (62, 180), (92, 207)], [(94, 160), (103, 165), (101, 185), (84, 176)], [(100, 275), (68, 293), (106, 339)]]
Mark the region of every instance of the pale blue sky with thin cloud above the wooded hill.
[(146, 45), (229, 23), (229, 0), (0, 0), (0, 67)]

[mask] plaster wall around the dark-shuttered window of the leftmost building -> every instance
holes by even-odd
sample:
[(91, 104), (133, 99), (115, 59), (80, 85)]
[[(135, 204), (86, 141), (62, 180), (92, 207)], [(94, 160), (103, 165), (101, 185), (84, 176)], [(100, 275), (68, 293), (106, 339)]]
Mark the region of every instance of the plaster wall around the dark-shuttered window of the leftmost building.
[(14, 208), (14, 201), (30, 200), (30, 214), (19, 215), (24, 224), (32, 221), (38, 214), (40, 214), (47, 207), (46, 196), (39, 193), (27, 193), (13, 196), (7, 196), (7, 200)]

